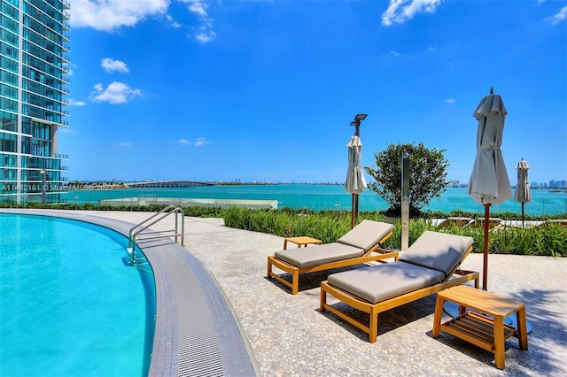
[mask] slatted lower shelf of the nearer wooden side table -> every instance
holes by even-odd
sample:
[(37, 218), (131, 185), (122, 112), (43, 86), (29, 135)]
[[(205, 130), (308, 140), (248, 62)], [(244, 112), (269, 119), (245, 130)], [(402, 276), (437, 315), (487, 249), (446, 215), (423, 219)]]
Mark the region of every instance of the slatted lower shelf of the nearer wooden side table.
[[(494, 322), (477, 312), (466, 312), (441, 325), (441, 331), (454, 335), (462, 340), (478, 345), (478, 347), (493, 352), (494, 350)], [(516, 336), (514, 327), (504, 325), (504, 340)]]

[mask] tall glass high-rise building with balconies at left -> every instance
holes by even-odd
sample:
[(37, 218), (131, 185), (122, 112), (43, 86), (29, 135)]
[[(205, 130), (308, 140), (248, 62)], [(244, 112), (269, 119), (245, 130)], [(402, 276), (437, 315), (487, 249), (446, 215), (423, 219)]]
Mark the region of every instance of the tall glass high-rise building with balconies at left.
[(1, 1), (0, 202), (58, 203), (67, 181), (58, 129), (68, 127), (69, 3)]

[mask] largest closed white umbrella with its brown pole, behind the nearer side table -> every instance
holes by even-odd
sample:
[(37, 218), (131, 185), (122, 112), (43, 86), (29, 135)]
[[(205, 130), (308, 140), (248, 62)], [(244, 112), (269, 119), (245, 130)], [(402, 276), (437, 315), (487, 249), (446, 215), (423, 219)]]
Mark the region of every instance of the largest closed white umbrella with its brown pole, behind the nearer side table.
[(512, 197), (512, 187), (502, 156), (502, 134), (504, 119), (508, 111), (501, 96), (490, 95), (482, 98), (473, 116), (478, 119), (477, 157), (470, 174), (467, 193), (476, 203), (485, 206), (485, 237), (483, 289), (486, 290), (488, 270), (488, 226), (490, 206), (501, 204)]

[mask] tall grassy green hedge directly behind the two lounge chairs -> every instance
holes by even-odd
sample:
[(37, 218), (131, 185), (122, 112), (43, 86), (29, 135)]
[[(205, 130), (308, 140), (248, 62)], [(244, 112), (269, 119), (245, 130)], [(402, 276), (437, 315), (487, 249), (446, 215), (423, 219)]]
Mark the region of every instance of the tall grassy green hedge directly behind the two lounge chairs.
[[(221, 213), (227, 227), (237, 227), (255, 232), (293, 237), (308, 235), (324, 243), (335, 242), (351, 228), (350, 212), (274, 211), (232, 208)], [(307, 215), (302, 216), (302, 215)], [(447, 216), (447, 214), (445, 214)], [(384, 221), (380, 212), (362, 212), (359, 220)], [(401, 247), (400, 220), (393, 221), (393, 235), (384, 243), (387, 249)], [(425, 230), (435, 230), (454, 235), (469, 235), (475, 239), (473, 252), (482, 252), (484, 230), (482, 227), (435, 227), (431, 219), (409, 221), (409, 244)], [(567, 256), (567, 228), (549, 225), (539, 228), (503, 227), (492, 230), (489, 252), (493, 254), (519, 254), (564, 257)]]

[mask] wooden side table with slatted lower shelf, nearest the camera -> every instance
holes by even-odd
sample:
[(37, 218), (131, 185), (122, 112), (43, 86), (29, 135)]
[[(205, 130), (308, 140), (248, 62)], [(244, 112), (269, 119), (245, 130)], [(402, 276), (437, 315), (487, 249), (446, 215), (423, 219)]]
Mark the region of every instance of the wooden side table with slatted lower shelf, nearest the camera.
[[(441, 324), (443, 303), (446, 300), (459, 305), (460, 315)], [(485, 313), (485, 315), (468, 312), (466, 308)], [(517, 315), (517, 328), (504, 325), (504, 318), (513, 313)], [(523, 303), (463, 285), (443, 290), (437, 294), (433, 337), (439, 337), (441, 330), (493, 352), (496, 367), (500, 369), (504, 369), (506, 339), (515, 336), (520, 342), (520, 349), (528, 349)]]

